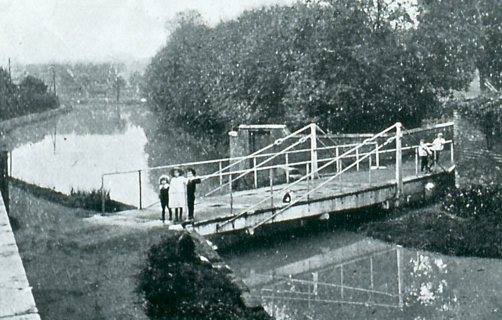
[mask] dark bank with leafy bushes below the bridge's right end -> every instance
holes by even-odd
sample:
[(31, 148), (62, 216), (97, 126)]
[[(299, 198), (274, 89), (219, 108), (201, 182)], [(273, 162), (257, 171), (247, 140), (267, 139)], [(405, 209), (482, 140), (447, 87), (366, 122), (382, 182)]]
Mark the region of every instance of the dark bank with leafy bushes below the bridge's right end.
[(450, 189), (439, 203), (410, 210), (358, 231), (406, 247), (456, 256), (502, 258), (502, 188), (500, 184)]

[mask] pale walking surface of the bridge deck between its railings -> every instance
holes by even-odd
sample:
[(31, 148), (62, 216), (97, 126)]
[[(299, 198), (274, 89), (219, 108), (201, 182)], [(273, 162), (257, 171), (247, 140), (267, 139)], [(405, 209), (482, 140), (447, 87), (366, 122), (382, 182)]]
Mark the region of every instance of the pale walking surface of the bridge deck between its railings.
[[(449, 165), (448, 161), (444, 161), (443, 167)], [(429, 174), (423, 174), (419, 172), (419, 177), (424, 177)], [(300, 197), (307, 188), (312, 190), (319, 184), (323, 183), (329, 177), (324, 177), (320, 179), (310, 180), (307, 184), (306, 181), (302, 181), (292, 188), (293, 199)], [(403, 178), (404, 180), (410, 180), (417, 178), (415, 175), (415, 162), (407, 161), (403, 163)], [(369, 188), (385, 186), (390, 183), (395, 182), (395, 167), (389, 166), (387, 168), (381, 168), (376, 170), (371, 170), (371, 184), (369, 183), (369, 173), (367, 170), (351, 171), (346, 172), (341, 175), (341, 178), (336, 177), (324, 187), (320, 188), (314, 192), (309, 200), (315, 201), (316, 199), (322, 199), (333, 196), (343, 196), (346, 194), (362, 192)], [(282, 202), (284, 191), (278, 192), (284, 185), (274, 185), (274, 208), (279, 209), (286, 204)], [(214, 220), (224, 220), (225, 217), (231, 217), (238, 214), (250, 207), (255, 203), (261, 201), (266, 196), (270, 195), (270, 187), (262, 187), (252, 190), (242, 190), (235, 191), (232, 194), (233, 205), (230, 208), (230, 195), (214, 195), (209, 197), (201, 197), (197, 194), (197, 199), (195, 202), (195, 224), (213, 223)], [(270, 210), (272, 209), (272, 201), (269, 199), (266, 202), (259, 205), (257, 208), (253, 208), (250, 211), (256, 210)], [(136, 227), (151, 227), (162, 225), (160, 221), (161, 216), (160, 204), (157, 204), (148, 209), (142, 210), (128, 210), (118, 212), (109, 216), (96, 215), (91, 218), (87, 218), (90, 223), (98, 224), (115, 224), (115, 225), (130, 225)], [(174, 215), (174, 212), (173, 212)], [(167, 212), (166, 212), (167, 216)], [(186, 218), (187, 213), (183, 213), (184, 218)], [(213, 222), (210, 222), (213, 221)], [(165, 225), (174, 227), (174, 223), (167, 221)]]

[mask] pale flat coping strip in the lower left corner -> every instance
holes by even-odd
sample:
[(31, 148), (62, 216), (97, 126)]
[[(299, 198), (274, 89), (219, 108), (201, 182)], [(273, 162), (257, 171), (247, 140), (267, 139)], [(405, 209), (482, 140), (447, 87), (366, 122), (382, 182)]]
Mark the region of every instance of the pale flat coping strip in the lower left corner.
[(40, 320), (32, 287), (0, 196), (0, 318)]

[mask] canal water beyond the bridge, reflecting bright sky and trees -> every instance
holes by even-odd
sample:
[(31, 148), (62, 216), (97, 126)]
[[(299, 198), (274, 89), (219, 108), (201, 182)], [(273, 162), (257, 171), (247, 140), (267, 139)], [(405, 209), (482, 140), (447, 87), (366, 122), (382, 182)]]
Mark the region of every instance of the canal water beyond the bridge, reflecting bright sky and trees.
[[(77, 103), (70, 113), (7, 133), (13, 177), (69, 194), (101, 187), (104, 173), (199, 160), (207, 156), (176, 133), (159, 133), (158, 121), (141, 102)], [(205, 152), (205, 153), (204, 153)], [(212, 156), (212, 155), (211, 155)], [(142, 171), (142, 206), (158, 202), (157, 179), (165, 171)], [(140, 175), (104, 177), (110, 197), (139, 207)]]

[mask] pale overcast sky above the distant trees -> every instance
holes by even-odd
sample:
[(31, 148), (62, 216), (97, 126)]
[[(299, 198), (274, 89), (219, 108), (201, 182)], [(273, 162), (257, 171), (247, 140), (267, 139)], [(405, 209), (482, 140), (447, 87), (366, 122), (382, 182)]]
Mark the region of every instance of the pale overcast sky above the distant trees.
[(152, 57), (165, 23), (195, 9), (210, 25), (294, 0), (0, 0), (0, 66)]

